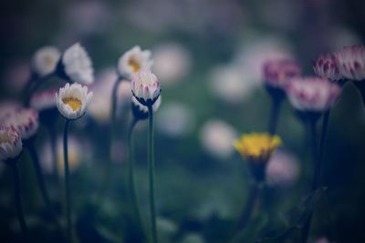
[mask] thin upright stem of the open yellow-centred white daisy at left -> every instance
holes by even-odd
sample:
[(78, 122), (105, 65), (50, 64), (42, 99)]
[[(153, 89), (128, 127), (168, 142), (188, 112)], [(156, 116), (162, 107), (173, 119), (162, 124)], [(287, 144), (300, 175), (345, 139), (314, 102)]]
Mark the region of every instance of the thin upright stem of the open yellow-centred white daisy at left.
[(66, 190), (66, 218), (68, 242), (72, 242), (72, 221), (71, 221), (71, 198), (69, 187), (69, 168), (68, 168), (68, 127), (71, 120), (66, 120), (63, 132), (63, 156), (65, 159), (65, 190)]

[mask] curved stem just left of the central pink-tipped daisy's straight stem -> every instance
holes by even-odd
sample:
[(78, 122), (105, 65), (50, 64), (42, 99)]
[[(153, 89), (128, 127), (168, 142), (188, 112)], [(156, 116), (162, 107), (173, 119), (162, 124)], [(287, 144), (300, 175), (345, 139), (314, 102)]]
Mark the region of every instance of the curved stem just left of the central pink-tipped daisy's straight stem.
[(133, 121), (130, 123), (130, 128), (128, 130), (128, 150), (129, 150), (129, 167), (128, 167), (128, 186), (130, 191), (130, 200), (131, 200), (131, 206), (134, 211), (134, 216), (137, 220), (137, 223), (141, 226), (143, 238), (145, 237), (144, 232), (144, 224), (143, 220), (141, 218), (141, 212), (140, 207), (138, 203), (137, 193), (136, 193), (136, 187), (134, 183), (134, 155), (133, 155), (133, 130), (134, 127), (138, 123), (138, 119), (133, 118)]

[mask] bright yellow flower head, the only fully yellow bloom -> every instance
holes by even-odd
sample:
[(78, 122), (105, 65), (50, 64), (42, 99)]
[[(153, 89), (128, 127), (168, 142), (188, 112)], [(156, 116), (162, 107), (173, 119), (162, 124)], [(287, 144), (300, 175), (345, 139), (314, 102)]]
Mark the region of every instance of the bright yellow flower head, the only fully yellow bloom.
[(237, 139), (235, 149), (246, 159), (267, 162), (276, 147), (281, 144), (280, 137), (253, 133)]

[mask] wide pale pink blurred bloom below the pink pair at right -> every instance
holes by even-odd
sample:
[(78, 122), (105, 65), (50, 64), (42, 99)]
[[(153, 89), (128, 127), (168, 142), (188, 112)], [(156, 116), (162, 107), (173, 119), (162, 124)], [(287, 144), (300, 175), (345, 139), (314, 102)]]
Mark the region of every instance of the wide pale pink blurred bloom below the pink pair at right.
[(287, 96), (299, 111), (327, 110), (337, 100), (341, 88), (328, 79), (316, 76), (293, 77), (287, 83)]

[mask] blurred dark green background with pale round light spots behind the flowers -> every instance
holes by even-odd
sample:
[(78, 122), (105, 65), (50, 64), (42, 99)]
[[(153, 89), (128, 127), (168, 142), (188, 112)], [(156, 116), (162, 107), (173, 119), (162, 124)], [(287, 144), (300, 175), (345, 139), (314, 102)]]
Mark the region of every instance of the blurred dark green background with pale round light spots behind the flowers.
[[(0, 96), (19, 98), (31, 56), (42, 46), (65, 50), (80, 42), (89, 52), (100, 86), (113, 78), (124, 52), (136, 45), (150, 49), (152, 70), (162, 82), (155, 126), (160, 237), (162, 242), (226, 242), (250, 181), (245, 161), (230, 145), (241, 133), (265, 132), (267, 127), (271, 104), (262, 86), (263, 62), (289, 56), (303, 66), (304, 74), (313, 75), (310, 60), (320, 53), (363, 44), (364, 9), (361, 0), (5, 0), (0, 3)], [(125, 198), (129, 102), (120, 102), (118, 139), (111, 152), (108, 121), (88, 113), (70, 130), (76, 140), (72, 147), (78, 165), (71, 185), (80, 242), (129, 242), (123, 241), (133, 230)], [(59, 117), (59, 134), (63, 123)], [(148, 219), (147, 127), (141, 123), (138, 128), (136, 180), (143, 217)], [(284, 187), (266, 187), (260, 214), (247, 229), (245, 242), (279, 228), (280, 218), (308, 194), (312, 174), (306, 132), (287, 101), (277, 134), (284, 141), (282, 153), (296, 161), (297, 172)], [(313, 240), (365, 242), (364, 135), (365, 110), (358, 91), (348, 84), (330, 117), (321, 178), (328, 187), (328, 203), (321, 200), (316, 206)], [(44, 160), (47, 139), (41, 127), (36, 142)], [(118, 163), (113, 164), (99, 203), (110, 153)], [(49, 223), (26, 153), (19, 166), (31, 235), (35, 242), (57, 242), (59, 233)], [(16, 242), (11, 171), (4, 166), (0, 171), (0, 241)], [(47, 187), (62, 215), (57, 178), (48, 171)]]

